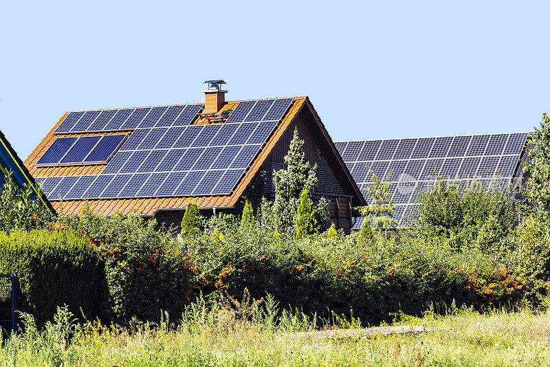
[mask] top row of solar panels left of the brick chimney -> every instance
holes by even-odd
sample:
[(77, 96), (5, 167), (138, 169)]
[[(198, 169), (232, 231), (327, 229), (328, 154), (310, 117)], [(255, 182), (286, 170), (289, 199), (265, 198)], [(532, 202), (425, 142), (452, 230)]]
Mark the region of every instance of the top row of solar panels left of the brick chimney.
[(71, 112), (54, 134), (93, 133), (133, 130), (155, 126), (185, 126), (195, 120), (204, 104), (144, 107), (138, 109), (108, 109)]

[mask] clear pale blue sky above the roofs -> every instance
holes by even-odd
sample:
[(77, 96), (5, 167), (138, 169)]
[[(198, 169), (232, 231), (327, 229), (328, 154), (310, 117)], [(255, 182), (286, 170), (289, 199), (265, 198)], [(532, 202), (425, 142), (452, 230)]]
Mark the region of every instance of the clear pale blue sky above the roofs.
[[(208, 4), (205, 5), (205, 4)], [(4, 1), (0, 129), (22, 159), (65, 111), (309, 96), (333, 140), (531, 131), (550, 1)]]

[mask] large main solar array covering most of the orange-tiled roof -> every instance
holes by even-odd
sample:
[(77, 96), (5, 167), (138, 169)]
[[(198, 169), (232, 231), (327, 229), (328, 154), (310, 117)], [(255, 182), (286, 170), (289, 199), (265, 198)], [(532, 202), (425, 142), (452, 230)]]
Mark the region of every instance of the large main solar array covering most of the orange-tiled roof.
[[(106, 116), (99, 123), (102, 111), (89, 126), (135, 129), (102, 173), (39, 177), (39, 181), (50, 200), (230, 194), (292, 100), (240, 102), (223, 124), (209, 125), (190, 125), (197, 115), (196, 107), (202, 107), (197, 104), (135, 109), (131, 113), (118, 110), (110, 120)], [(188, 109), (190, 106), (195, 109)], [(124, 113), (124, 118), (116, 120), (120, 113)], [(76, 132), (75, 126), (86, 113), (72, 114), (65, 119), (69, 123), (63, 126), (62, 122), (56, 133)], [(117, 122), (113, 124), (113, 120)], [(58, 138), (60, 144), (65, 139), (76, 138)], [(60, 148), (65, 149), (65, 145)]]

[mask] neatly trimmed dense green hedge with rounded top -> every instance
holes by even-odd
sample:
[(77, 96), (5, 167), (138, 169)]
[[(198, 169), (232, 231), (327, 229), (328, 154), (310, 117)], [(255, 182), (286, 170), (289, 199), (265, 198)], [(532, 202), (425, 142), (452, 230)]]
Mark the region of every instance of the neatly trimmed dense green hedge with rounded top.
[(38, 325), (63, 304), (89, 320), (101, 314), (104, 264), (87, 238), (67, 231), (0, 232), (0, 259), (0, 273), (19, 277), (19, 309)]

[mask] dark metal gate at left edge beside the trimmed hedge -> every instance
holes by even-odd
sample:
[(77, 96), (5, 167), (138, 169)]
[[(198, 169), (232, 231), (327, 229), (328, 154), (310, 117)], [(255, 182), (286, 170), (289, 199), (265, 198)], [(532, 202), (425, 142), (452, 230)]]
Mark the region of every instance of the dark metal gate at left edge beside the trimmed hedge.
[(17, 331), (17, 276), (0, 274), (0, 329), (2, 340)]

